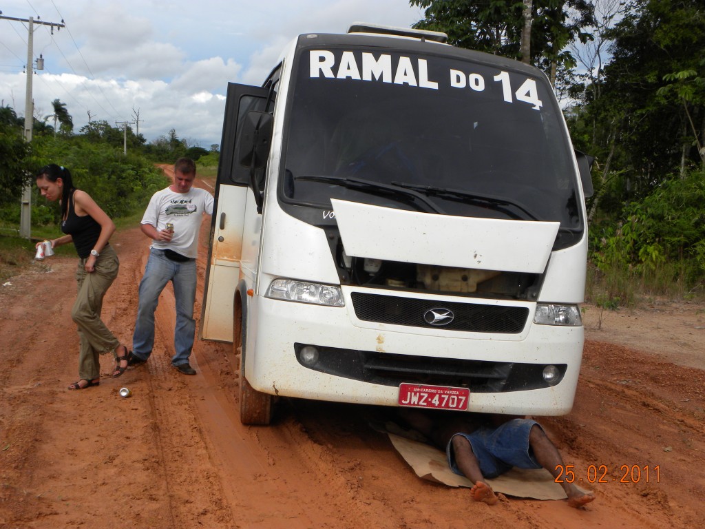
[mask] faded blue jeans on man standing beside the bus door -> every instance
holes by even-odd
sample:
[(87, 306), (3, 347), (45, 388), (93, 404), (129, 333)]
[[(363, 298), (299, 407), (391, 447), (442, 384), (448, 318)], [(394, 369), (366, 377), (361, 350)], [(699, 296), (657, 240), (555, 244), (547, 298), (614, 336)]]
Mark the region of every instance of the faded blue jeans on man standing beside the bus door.
[(133, 334), (133, 354), (147, 360), (154, 347), (154, 311), (159, 294), (171, 281), (176, 300), (173, 365), (188, 363), (196, 332), (193, 304), (196, 300), (196, 260), (176, 262), (164, 255), (164, 250), (149, 250), (145, 275), (140, 281), (140, 305)]

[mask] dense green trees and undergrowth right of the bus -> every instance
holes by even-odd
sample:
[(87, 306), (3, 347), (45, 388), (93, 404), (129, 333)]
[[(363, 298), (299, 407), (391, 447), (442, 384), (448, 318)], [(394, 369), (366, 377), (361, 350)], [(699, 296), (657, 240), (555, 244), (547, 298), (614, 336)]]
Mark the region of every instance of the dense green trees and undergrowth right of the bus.
[[(520, 59), (525, 1), (410, 4), (426, 9), (416, 27)], [(629, 281), (704, 291), (702, 0), (534, 0), (530, 54), (556, 79), (575, 146), (596, 157), (591, 262), (608, 298), (628, 302)]]

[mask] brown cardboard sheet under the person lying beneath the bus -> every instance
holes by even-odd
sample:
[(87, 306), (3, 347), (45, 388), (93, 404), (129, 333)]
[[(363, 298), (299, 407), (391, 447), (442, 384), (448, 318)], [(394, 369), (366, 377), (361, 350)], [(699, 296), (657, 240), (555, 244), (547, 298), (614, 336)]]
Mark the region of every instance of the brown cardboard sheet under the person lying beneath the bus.
[[(412, 439), (387, 432), (394, 448), (424, 480), (444, 483), (450, 487), (472, 487), (467, 478), (454, 474), (448, 468), (448, 459), (442, 451)], [(565, 499), (563, 487), (553, 481), (548, 470), (522, 470), (513, 468), (498, 478), (486, 480), (494, 492), (508, 496), (534, 499)]]

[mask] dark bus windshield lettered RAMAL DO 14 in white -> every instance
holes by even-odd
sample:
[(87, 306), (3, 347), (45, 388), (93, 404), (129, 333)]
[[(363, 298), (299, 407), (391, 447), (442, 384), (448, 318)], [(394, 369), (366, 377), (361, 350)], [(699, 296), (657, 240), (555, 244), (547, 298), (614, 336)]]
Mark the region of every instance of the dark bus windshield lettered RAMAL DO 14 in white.
[(363, 47), (300, 49), (281, 198), (559, 221), (582, 231), (577, 177), (545, 78)]

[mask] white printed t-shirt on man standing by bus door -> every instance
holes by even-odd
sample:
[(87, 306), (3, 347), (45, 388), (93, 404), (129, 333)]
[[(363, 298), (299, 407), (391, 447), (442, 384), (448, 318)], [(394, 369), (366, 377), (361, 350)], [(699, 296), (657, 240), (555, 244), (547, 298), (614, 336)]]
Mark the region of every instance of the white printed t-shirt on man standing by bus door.
[(175, 193), (166, 188), (154, 193), (142, 217), (142, 224), (152, 224), (162, 231), (171, 222), (174, 233), (171, 242), (152, 241), (150, 248), (168, 248), (195, 259), (203, 214), (213, 214), (213, 202), (213, 195), (201, 188), (190, 188), (188, 193)]

